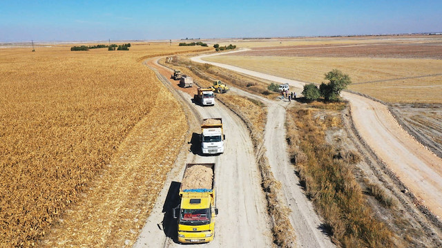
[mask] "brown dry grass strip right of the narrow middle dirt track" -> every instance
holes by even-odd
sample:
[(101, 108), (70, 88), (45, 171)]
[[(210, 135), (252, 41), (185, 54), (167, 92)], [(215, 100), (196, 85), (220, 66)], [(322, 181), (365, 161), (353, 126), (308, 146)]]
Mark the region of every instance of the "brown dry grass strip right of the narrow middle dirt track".
[(393, 233), (366, 207), (361, 187), (352, 174), (350, 162), (358, 162), (358, 156), (351, 151), (338, 151), (325, 142), (327, 128), (337, 119), (314, 117), (315, 112), (312, 108), (289, 109), (289, 152), (294, 155), (300, 181), (325, 219), (332, 239), (342, 247), (392, 247)]

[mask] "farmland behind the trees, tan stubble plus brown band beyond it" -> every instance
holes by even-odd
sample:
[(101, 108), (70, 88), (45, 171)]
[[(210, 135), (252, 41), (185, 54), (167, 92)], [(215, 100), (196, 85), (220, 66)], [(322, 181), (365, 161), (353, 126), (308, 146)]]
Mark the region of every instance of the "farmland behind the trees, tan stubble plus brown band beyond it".
[(316, 84), (338, 68), (352, 78), (349, 90), (385, 102), (430, 104), (442, 102), (441, 42), (440, 37), (300, 39), (297, 46), (252, 48), (207, 60)]

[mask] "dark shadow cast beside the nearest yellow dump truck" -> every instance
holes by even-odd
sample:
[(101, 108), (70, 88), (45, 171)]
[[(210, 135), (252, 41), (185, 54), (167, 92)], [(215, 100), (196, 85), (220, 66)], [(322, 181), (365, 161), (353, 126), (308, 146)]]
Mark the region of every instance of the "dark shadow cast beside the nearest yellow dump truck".
[(162, 221), (164, 234), (175, 243), (178, 242), (178, 224), (177, 219), (173, 218), (173, 209), (180, 204), (180, 187), (180, 182), (171, 182), (162, 211), (164, 213)]

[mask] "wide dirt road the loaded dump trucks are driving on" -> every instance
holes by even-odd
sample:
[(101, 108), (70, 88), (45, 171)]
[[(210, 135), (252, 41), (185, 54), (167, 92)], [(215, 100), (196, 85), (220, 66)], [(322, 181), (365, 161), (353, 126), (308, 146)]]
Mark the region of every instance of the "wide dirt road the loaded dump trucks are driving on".
[[(243, 122), (227, 107), (198, 106), (191, 102), (193, 95), (176, 88), (176, 82), (169, 79), (171, 70), (156, 63), (147, 62), (168, 88), (181, 99), (193, 135), (183, 148), (175, 169), (169, 173), (166, 187), (158, 197), (155, 207), (142, 229), (134, 247), (177, 247), (177, 222), (171, 218), (172, 208), (179, 203), (177, 191), (184, 171), (184, 164), (190, 162), (215, 163), (217, 207), (219, 214), (215, 222), (215, 239), (202, 247), (271, 247), (269, 217), (266, 211), (265, 195), (260, 187), (260, 173), (253, 153), (249, 131)], [(172, 113), (171, 113), (172, 114)], [(196, 116), (196, 118), (195, 118)], [(198, 133), (202, 118), (221, 117), (226, 142), (224, 154), (218, 156), (199, 155)]]

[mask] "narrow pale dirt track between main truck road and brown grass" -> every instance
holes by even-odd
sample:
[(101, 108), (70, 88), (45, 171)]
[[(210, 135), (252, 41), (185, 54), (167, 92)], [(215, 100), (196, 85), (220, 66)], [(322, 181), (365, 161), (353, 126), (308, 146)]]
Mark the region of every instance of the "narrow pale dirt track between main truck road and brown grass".
[(294, 227), (298, 247), (325, 248), (334, 244), (322, 230), (322, 222), (316, 215), (311, 201), (307, 199), (304, 189), (300, 187), (294, 166), (289, 162), (287, 142), (285, 140), (285, 108), (289, 102), (271, 101), (265, 97), (252, 95), (243, 90), (232, 88), (238, 95), (260, 99), (267, 106), (267, 123), (265, 126), (265, 155), (269, 159), (271, 171), (282, 187), (278, 199), (291, 213), (289, 220)]

